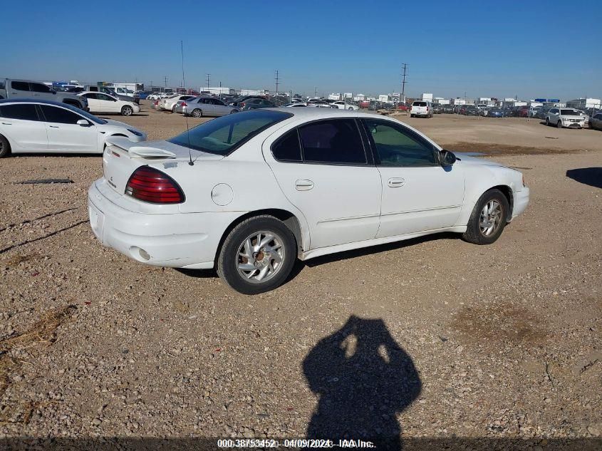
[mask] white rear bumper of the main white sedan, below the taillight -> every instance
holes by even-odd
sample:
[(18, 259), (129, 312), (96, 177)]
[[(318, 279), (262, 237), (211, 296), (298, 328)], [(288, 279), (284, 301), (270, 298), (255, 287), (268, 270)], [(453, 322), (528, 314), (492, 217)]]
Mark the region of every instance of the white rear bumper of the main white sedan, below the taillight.
[(149, 214), (117, 203), (121, 195), (96, 180), (88, 190), (88, 215), (106, 247), (152, 266), (210, 269), (229, 224), (238, 212)]

